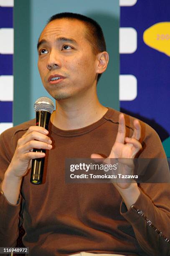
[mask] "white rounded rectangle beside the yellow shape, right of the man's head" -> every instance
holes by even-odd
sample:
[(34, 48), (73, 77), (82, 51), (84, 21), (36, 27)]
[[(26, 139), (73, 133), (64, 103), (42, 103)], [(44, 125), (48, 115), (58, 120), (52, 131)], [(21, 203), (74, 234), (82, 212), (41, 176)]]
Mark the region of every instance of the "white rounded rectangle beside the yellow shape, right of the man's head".
[(119, 53), (132, 54), (137, 49), (137, 31), (134, 28), (119, 28)]

